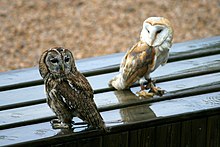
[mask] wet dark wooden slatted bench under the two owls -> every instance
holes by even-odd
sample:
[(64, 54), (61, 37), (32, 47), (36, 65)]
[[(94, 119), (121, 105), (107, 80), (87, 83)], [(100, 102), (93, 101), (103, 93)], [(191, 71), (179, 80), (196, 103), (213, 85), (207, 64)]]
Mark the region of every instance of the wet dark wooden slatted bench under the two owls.
[(0, 73), (1, 146), (220, 147), (220, 36), (176, 43), (168, 63), (152, 77), (167, 93), (139, 98), (115, 91), (108, 81), (124, 53), (78, 60), (110, 133), (86, 130), (74, 118), (74, 132), (53, 130), (38, 68)]

